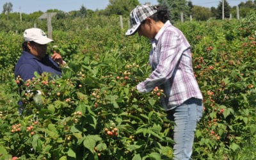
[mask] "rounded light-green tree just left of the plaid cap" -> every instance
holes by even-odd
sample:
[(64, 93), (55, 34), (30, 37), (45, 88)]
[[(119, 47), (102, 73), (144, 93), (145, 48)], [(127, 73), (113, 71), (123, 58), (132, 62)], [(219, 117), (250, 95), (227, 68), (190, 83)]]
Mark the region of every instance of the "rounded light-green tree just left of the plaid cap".
[(139, 3), (138, 0), (109, 0), (109, 5), (104, 11), (105, 15), (129, 15), (131, 10)]

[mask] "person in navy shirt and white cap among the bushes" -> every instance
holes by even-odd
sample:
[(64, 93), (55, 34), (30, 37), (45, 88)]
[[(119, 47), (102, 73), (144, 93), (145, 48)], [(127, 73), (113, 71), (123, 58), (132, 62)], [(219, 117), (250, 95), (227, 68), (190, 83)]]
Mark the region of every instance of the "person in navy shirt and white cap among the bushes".
[(52, 42), (44, 31), (39, 28), (29, 28), (24, 31), (24, 43), (22, 55), (15, 66), (15, 77), (20, 76), (23, 81), (35, 77), (34, 73), (51, 73), (52, 76), (61, 76), (60, 65), (65, 64), (60, 54), (54, 52), (52, 56), (47, 54), (47, 44)]

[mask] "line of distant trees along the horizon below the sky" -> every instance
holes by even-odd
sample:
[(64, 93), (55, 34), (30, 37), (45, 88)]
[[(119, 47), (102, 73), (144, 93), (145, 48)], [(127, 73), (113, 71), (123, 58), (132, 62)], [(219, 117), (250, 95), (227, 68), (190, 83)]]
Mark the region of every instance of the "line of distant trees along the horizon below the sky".
[[(230, 18), (230, 15), (237, 15), (237, 6), (230, 6), (227, 0), (220, 0), (218, 6), (207, 8), (204, 6), (194, 5), (191, 1), (186, 0), (157, 0), (158, 4), (163, 4), (168, 6), (170, 9), (170, 17), (172, 22), (180, 20), (180, 13), (182, 13), (184, 20), (189, 20), (193, 17), (194, 20), (208, 20), (213, 19), (222, 19), (223, 16), (223, 3), (224, 3), (224, 17)], [(70, 12), (63, 12), (61, 10), (49, 9), (47, 12), (57, 12), (56, 19), (67, 19), (68, 17), (94, 17), (99, 15), (123, 15), (128, 16), (132, 8), (137, 6), (139, 3), (138, 0), (109, 0), (108, 6), (104, 10), (89, 10), (86, 6), (81, 6), (79, 10), (73, 10)], [(33, 12), (33, 13), (18, 13), (12, 12), (12, 3), (5, 3), (3, 5), (3, 12), (0, 15), (0, 19), (12, 19), (12, 20), (35, 20), (40, 15), (42, 11)], [(238, 4), (239, 15), (240, 17), (245, 17), (246, 13), (250, 10), (256, 9), (256, 0), (255, 1), (246, 1)]]

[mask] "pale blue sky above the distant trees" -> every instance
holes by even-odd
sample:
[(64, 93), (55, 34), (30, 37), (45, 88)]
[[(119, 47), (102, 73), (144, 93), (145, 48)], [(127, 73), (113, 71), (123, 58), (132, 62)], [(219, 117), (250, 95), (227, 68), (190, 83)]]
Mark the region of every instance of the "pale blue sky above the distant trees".
[[(164, 0), (163, 0), (164, 1)], [(211, 6), (217, 7), (221, 0), (191, 0), (194, 5), (205, 6), (211, 8)], [(227, 0), (230, 6), (236, 6), (243, 0)], [(13, 4), (13, 12), (33, 13), (36, 11), (46, 12), (49, 9), (58, 9), (64, 12), (72, 10), (79, 10), (82, 5), (91, 10), (102, 10), (109, 4), (109, 0), (0, 0), (0, 12), (3, 12), (4, 3)], [(157, 4), (157, 0), (139, 0), (141, 4), (150, 2), (151, 4)]]

